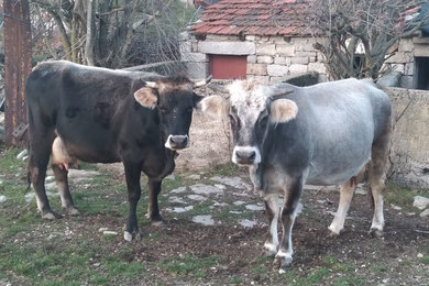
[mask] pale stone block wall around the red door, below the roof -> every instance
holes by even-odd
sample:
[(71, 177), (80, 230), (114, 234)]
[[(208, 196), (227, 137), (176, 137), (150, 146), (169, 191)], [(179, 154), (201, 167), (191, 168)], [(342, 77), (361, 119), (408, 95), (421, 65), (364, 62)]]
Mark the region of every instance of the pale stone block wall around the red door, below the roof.
[(308, 72), (324, 75), (323, 56), (312, 47), (314, 42), (311, 37), (254, 35), (245, 36), (244, 41), (238, 36), (207, 35), (201, 41), (190, 32), (184, 32), (180, 34), (180, 54), (188, 75), (197, 79), (209, 74), (208, 55), (245, 55), (248, 78), (267, 84)]

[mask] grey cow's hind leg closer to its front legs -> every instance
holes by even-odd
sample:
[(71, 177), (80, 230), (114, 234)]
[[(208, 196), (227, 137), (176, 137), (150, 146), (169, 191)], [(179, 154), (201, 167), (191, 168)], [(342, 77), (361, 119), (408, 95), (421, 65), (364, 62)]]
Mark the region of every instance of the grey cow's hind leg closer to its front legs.
[(350, 202), (352, 201), (356, 186), (358, 182), (355, 177), (341, 185), (340, 204), (338, 205), (336, 217), (333, 218), (331, 226), (328, 228), (333, 235), (340, 234), (340, 231), (344, 228), (345, 217), (348, 215)]

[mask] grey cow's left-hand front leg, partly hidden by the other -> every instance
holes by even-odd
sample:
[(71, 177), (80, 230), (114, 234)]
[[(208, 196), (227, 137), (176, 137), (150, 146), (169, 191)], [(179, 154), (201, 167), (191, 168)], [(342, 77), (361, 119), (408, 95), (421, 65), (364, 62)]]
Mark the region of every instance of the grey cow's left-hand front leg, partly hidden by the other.
[(275, 255), (278, 248), (278, 195), (277, 194), (264, 194), (263, 195), (266, 215), (268, 217), (270, 233), (268, 239), (264, 243), (264, 249), (268, 255)]

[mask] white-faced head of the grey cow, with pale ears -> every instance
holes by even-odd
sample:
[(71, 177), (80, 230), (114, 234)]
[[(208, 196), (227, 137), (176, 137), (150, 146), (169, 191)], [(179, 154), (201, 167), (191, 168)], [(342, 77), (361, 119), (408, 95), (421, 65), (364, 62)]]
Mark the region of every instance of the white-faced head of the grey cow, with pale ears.
[(261, 163), (261, 148), (271, 124), (293, 120), (297, 105), (280, 95), (292, 92), (287, 86), (263, 86), (255, 80), (235, 80), (228, 87), (230, 98), (211, 96), (201, 100), (202, 111), (229, 117), (234, 140), (232, 162), (240, 165)]

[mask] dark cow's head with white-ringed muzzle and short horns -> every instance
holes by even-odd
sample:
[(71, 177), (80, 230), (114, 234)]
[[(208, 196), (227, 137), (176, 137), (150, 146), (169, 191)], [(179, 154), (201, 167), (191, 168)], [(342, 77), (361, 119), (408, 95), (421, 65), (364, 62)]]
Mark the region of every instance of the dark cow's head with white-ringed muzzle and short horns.
[(134, 92), (140, 105), (157, 110), (165, 147), (180, 150), (189, 146), (193, 109), (202, 98), (194, 92), (194, 88), (209, 80), (194, 84), (185, 76), (165, 78), (146, 81), (145, 87)]

